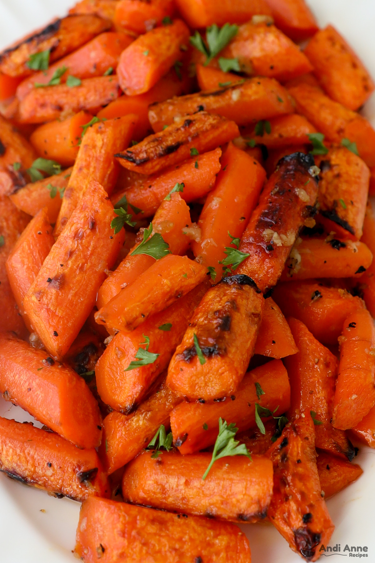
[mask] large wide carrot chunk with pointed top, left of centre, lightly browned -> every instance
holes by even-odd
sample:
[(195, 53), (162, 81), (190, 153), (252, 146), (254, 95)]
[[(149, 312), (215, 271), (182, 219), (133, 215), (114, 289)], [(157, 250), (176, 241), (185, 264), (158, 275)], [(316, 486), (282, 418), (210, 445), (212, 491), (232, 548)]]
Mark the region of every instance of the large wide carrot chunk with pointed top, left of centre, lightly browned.
[(82, 328), (105, 270), (124, 242), (122, 232), (113, 235), (110, 223), (114, 217), (105, 190), (92, 181), (24, 298), (35, 332), (58, 359), (65, 356)]

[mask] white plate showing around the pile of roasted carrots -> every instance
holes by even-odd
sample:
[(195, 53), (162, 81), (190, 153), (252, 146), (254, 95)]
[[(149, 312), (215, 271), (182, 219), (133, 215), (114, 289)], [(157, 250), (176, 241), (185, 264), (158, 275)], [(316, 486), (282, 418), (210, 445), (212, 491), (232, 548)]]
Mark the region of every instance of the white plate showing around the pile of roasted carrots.
[[(73, 1), (73, 0), (72, 0)], [(236, 2), (236, 0), (233, 0)], [(64, 15), (70, 0), (0, 0), (0, 48), (43, 25), (53, 16)], [(321, 26), (333, 23), (353, 45), (375, 77), (374, 0), (309, 0)], [(375, 96), (364, 114), (375, 126)], [(30, 421), (20, 408), (0, 399), (0, 415)], [(362, 448), (356, 461), (364, 474), (353, 485), (328, 501), (335, 522), (330, 545), (367, 546), (375, 561), (373, 511), (375, 506), (375, 450)], [(40, 512), (44, 510), (45, 512)], [(73, 563), (75, 528), (79, 504), (69, 499), (48, 497), (0, 475), (0, 562)], [(242, 526), (250, 540), (253, 563), (294, 563), (301, 558), (290, 551), (285, 540), (270, 525)], [(335, 553), (327, 553), (337, 560)], [(345, 560), (344, 560), (345, 561)], [(141, 562), (140, 562), (141, 563)]]

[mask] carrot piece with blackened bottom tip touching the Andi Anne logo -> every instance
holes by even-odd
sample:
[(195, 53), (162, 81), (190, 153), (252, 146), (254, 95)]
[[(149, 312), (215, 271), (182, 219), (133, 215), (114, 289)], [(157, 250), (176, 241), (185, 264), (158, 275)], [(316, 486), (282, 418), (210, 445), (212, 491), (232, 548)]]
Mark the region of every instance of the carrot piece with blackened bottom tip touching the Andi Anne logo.
[(274, 471), (268, 517), (292, 551), (316, 561), (335, 526), (321, 494), (310, 413), (289, 423), (267, 455)]

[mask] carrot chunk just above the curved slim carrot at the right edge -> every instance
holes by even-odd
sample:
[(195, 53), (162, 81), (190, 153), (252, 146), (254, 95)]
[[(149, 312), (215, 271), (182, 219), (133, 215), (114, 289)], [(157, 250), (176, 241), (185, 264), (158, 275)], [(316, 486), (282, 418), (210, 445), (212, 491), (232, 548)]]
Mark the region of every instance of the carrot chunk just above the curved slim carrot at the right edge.
[[(318, 272), (315, 270), (315, 274)], [(272, 296), (284, 315), (302, 321), (326, 346), (337, 345), (346, 317), (364, 309), (359, 297), (353, 297), (345, 289), (326, 287), (316, 280), (278, 284)]]

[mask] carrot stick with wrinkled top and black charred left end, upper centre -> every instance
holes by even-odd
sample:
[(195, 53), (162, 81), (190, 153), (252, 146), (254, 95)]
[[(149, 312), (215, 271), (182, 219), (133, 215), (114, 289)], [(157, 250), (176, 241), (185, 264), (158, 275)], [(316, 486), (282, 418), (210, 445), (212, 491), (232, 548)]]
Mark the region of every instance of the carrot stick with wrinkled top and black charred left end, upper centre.
[(233, 121), (200, 111), (188, 118), (176, 119), (173, 125), (115, 157), (124, 168), (150, 175), (190, 158), (191, 149), (205, 153), (239, 135)]

